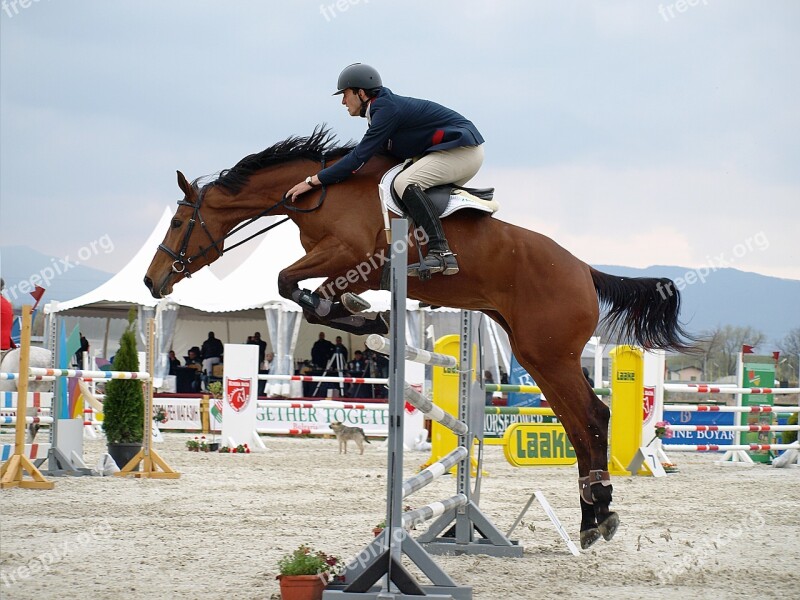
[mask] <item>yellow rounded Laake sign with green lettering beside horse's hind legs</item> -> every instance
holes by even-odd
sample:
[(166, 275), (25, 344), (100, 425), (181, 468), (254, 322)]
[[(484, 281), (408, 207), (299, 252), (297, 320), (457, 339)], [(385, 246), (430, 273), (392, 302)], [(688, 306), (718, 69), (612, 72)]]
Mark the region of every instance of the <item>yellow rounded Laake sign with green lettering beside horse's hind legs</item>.
[(514, 423), (503, 441), (506, 459), (515, 467), (572, 465), (578, 460), (560, 423)]

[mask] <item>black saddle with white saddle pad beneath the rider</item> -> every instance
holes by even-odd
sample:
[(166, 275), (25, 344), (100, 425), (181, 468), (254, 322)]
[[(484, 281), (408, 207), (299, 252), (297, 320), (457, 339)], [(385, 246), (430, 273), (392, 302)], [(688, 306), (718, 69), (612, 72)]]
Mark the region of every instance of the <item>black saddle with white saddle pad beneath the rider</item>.
[[(399, 164), (386, 171), (378, 186), (384, 208), (384, 219), (387, 223), (388, 215), (386, 215), (386, 209), (398, 215), (407, 216), (400, 209), (400, 199), (397, 197), (397, 192), (394, 191), (393, 185), (394, 178), (403, 170), (404, 166), (404, 164)], [(448, 183), (428, 188), (425, 193), (428, 194), (428, 197), (433, 202), (436, 215), (440, 219), (444, 219), (462, 208), (472, 208), (491, 214), (500, 209), (500, 204), (493, 199), (494, 188), (470, 188)]]

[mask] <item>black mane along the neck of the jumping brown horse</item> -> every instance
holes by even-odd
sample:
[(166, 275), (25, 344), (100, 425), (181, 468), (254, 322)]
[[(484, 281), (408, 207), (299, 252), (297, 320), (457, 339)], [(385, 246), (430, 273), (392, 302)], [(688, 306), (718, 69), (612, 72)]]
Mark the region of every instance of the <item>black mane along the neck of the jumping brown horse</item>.
[(250, 176), (270, 165), (307, 158), (314, 161), (326, 158), (338, 158), (352, 150), (352, 142), (339, 145), (336, 136), (325, 125), (317, 125), (314, 132), (308, 137), (289, 137), (273, 144), (266, 150), (245, 156), (230, 169), (219, 174), (213, 185), (219, 185), (234, 194), (239, 193), (247, 183)]

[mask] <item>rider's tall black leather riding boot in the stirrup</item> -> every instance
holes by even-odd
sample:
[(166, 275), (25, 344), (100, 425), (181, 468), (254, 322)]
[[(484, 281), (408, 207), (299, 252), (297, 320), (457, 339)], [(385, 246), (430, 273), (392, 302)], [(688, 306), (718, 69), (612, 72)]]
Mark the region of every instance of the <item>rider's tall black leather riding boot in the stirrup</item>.
[(431, 199), (419, 185), (412, 183), (403, 192), (403, 204), (406, 212), (419, 227), (425, 230), (428, 236), (428, 255), (422, 259), (422, 264), (408, 265), (408, 274), (422, 277), (426, 270), (430, 274), (442, 273), (455, 275), (458, 273), (456, 255), (450, 251), (444, 237), (442, 222), (436, 216)]

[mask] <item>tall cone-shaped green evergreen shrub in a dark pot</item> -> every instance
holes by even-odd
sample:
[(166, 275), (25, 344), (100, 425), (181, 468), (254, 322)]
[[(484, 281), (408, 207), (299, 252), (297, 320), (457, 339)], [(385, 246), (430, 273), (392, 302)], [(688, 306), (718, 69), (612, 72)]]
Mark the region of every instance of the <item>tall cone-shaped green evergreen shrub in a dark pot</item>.
[[(136, 313), (128, 313), (128, 328), (119, 340), (114, 371), (138, 371)], [(108, 453), (122, 469), (142, 449), (144, 438), (144, 391), (140, 379), (112, 379), (106, 384), (103, 402), (103, 431)], [(138, 465), (136, 470), (138, 470)]]

